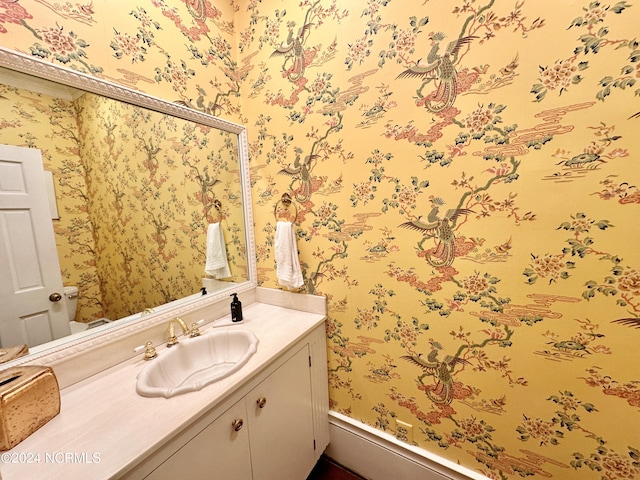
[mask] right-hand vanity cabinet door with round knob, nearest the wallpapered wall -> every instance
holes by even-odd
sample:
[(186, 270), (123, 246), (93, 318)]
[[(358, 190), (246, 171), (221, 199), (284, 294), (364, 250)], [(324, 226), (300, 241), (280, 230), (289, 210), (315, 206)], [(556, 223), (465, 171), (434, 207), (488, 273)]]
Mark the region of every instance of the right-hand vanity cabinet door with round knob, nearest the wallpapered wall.
[(309, 348), (246, 397), (253, 480), (305, 479), (315, 463)]

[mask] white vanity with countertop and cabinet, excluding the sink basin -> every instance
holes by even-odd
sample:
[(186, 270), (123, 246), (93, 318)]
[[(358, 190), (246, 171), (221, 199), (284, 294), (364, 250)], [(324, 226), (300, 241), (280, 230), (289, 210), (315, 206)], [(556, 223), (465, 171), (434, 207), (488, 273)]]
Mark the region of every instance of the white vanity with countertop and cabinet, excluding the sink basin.
[[(225, 317), (209, 327), (259, 339), (240, 370), (171, 398), (136, 393), (140, 354), (88, 376), (63, 388), (60, 414), (3, 457), (2, 480), (304, 480), (329, 443), (326, 307), (321, 297), (267, 293), (272, 302), (248, 304), (243, 324)], [(164, 335), (166, 324), (158, 328)], [(140, 343), (117, 340), (129, 351)], [(54, 370), (81, 369), (101, 352)]]

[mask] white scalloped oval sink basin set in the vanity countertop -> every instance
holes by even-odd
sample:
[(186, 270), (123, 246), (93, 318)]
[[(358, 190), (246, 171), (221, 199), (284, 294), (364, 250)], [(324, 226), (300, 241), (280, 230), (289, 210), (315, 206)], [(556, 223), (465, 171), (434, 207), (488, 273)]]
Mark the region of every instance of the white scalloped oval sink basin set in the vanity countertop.
[(143, 397), (173, 397), (200, 390), (240, 369), (258, 349), (249, 330), (211, 330), (161, 352), (138, 374)]

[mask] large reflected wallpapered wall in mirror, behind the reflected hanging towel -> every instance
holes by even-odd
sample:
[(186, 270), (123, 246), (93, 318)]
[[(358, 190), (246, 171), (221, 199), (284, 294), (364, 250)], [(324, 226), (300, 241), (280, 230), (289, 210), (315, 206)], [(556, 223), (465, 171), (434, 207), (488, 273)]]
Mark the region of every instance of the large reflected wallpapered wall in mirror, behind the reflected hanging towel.
[(228, 280), (244, 280), (237, 135), (95, 95), (78, 103), (106, 316), (199, 293), (210, 223), (222, 226)]

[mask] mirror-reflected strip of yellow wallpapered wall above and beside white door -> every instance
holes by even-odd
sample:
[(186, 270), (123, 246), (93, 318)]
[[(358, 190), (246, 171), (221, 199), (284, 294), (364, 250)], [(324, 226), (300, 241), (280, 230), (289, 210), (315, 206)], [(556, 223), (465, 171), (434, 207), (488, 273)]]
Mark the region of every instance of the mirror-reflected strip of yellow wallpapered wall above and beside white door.
[(76, 319), (90, 321), (104, 311), (76, 113), (71, 100), (0, 84), (0, 143), (39, 149), (45, 170), (53, 173), (59, 213), (53, 226), (62, 280), (82, 292)]

